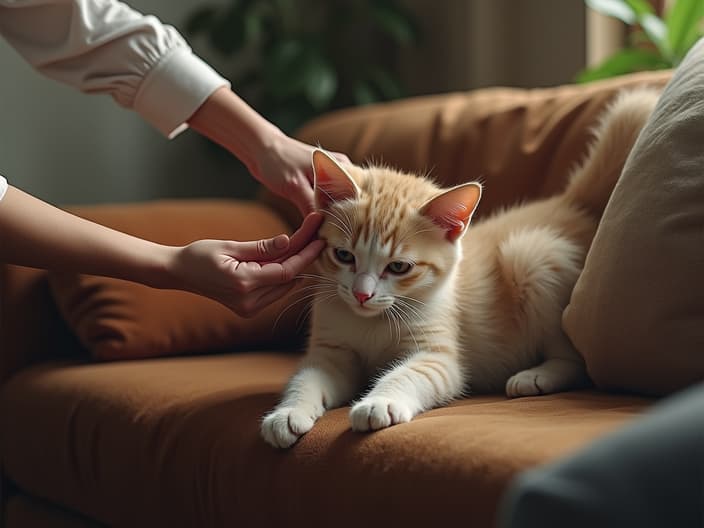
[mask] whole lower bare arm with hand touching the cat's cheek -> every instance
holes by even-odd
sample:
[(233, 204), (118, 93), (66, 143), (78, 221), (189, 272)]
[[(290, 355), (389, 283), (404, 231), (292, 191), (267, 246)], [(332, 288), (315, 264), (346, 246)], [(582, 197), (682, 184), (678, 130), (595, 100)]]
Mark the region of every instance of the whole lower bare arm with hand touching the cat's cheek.
[(79, 218), (10, 186), (0, 200), (0, 261), (191, 291), (250, 316), (290, 290), (296, 275), (320, 253), (323, 242), (313, 240), (320, 222), (320, 215), (309, 215), (291, 238), (164, 246)]

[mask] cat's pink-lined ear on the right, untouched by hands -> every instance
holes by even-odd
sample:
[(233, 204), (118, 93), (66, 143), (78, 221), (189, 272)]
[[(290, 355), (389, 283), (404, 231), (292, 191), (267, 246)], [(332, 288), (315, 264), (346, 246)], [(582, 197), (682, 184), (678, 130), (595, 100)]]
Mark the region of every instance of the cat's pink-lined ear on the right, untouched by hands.
[(481, 184), (464, 183), (431, 198), (420, 213), (445, 229), (446, 238), (454, 242), (467, 231), (481, 197)]

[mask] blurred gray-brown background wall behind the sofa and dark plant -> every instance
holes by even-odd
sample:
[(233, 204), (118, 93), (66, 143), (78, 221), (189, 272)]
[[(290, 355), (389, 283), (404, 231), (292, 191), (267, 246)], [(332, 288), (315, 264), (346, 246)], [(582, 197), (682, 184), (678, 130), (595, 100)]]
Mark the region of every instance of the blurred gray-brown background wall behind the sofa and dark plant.
[[(129, 3), (179, 27), (204, 1)], [(559, 84), (584, 63), (582, 0), (405, 1), (426, 33), (402, 58), (412, 94)], [(58, 204), (251, 194), (241, 166), (194, 132), (168, 141), (111, 98), (39, 76), (2, 40), (0, 67), (0, 174), (27, 192)]]

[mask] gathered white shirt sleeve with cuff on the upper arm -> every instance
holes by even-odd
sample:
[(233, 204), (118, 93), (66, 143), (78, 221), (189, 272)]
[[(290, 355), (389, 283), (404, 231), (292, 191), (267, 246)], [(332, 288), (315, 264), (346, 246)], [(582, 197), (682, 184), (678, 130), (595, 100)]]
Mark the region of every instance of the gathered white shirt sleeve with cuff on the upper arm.
[(116, 0), (0, 0), (0, 35), (41, 73), (110, 94), (168, 137), (229, 86), (176, 29)]

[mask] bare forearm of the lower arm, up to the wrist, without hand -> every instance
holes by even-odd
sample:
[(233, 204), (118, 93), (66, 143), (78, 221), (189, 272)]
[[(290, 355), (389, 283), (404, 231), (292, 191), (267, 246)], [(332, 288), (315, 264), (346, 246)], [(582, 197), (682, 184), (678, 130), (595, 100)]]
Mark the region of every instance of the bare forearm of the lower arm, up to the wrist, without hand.
[(57, 209), (10, 186), (0, 201), (0, 261), (171, 287), (177, 248)]

